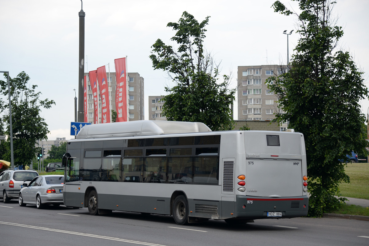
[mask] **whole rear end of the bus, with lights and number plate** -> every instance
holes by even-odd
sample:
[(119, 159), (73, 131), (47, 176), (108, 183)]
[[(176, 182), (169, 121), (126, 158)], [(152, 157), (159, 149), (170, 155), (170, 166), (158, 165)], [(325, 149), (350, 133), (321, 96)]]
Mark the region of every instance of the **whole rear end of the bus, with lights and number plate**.
[(238, 218), (292, 218), (308, 211), (304, 136), (244, 131), (245, 153), (235, 170)]

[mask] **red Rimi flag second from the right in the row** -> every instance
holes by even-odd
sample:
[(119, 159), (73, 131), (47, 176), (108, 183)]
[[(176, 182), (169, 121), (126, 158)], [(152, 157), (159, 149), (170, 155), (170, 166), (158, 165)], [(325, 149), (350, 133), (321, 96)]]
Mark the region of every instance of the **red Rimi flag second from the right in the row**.
[(105, 66), (99, 67), (96, 74), (101, 97), (101, 123), (110, 123), (109, 87)]

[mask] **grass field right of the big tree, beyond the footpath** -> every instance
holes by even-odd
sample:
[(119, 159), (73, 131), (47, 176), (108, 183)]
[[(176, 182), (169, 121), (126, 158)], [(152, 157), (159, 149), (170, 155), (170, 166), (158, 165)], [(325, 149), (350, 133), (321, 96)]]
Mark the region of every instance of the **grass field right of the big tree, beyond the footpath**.
[(369, 163), (348, 163), (345, 172), (350, 177), (350, 183), (339, 185), (341, 195), (369, 199)]

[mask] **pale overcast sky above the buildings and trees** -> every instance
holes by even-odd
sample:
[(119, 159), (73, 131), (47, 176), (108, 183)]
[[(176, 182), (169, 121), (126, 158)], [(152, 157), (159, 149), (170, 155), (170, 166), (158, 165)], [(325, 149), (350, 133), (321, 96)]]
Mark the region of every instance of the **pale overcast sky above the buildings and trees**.
[[(183, 11), (197, 21), (210, 16), (204, 47), (221, 62), (222, 73), (233, 74), (236, 86), (237, 67), (286, 64), (287, 35), (296, 30), (295, 17), (274, 13), (274, 0), (84, 0), (85, 72), (128, 56), (127, 72), (137, 72), (145, 80), (145, 119), (148, 119), (148, 96), (165, 94), (171, 82), (166, 73), (152, 67), (151, 46), (160, 38), (166, 44), (175, 32), (166, 27), (177, 22)], [(298, 10), (296, 3), (281, 0)], [(78, 91), (80, 0), (0, 0), (0, 70), (11, 77), (25, 71), (31, 84), (38, 86), (41, 99), (56, 102), (41, 116), (49, 125), (49, 140), (70, 136), (74, 121), (74, 97)], [(340, 45), (349, 50), (368, 79), (369, 1), (337, 0), (334, 8), (337, 25), (344, 28)], [(289, 36), (289, 53), (299, 35)], [(106, 67), (106, 70), (108, 68)], [(1, 79), (4, 80), (1, 75)], [(78, 93), (77, 93), (78, 95)], [(7, 99), (5, 99), (7, 100)], [(363, 100), (366, 115), (369, 101)], [(237, 117), (237, 102), (235, 109)], [(237, 119), (237, 118), (235, 118)]]

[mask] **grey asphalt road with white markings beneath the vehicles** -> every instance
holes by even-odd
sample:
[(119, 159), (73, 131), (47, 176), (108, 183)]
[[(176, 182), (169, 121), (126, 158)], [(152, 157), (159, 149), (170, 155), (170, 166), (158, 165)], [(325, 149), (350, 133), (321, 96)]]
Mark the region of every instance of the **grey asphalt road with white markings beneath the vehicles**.
[(150, 245), (369, 245), (369, 222), (338, 218), (255, 220), (241, 226), (209, 220), (179, 226), (171, 216), (114, 211), (91, 216), (87, 208), (20, 207), (0, 202), (1, 246)]

